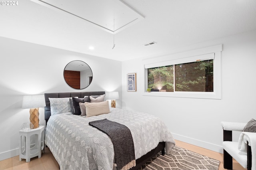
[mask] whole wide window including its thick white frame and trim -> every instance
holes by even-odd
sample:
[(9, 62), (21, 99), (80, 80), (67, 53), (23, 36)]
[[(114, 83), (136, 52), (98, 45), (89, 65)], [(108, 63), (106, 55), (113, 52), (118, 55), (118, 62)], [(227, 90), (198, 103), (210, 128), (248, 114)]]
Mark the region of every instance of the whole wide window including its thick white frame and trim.
[[(149, 59), (144, 95), (221, 99), (220, 51), (222, 45), (216, 45)], [(146, 93), (148, 88), (152, 93)]]

